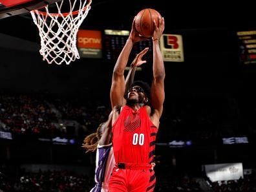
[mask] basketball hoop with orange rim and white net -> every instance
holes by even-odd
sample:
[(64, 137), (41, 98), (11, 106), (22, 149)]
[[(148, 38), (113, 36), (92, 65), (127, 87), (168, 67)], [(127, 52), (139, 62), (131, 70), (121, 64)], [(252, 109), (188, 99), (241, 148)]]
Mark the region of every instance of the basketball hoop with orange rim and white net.
[(39, 52), (44, 61), (58, 65), (65, 61), (69, 65), (71, 61), (80, 58), (76, 48), (76, 34), (91, 9), (91, 2), (92, 0), (63, 0), (55, 3), (55, 7), (47, 5), (30, 12), (39, 29)]

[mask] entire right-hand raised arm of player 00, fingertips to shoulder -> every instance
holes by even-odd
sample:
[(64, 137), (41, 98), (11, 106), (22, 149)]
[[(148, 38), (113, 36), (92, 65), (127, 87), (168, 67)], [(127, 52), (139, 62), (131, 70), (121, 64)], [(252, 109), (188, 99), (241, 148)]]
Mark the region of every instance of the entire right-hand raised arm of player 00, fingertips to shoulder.
[[(153, 120), (160, 119), (163, 112), (164, 105), (164, 78), (165, 78), (165, 69), (164, 69), (164, 61), (162, 58), (162, 53), (160, 51), (160, 37), (164, 32), (164, 18), (158, 18), (159, 25), (156, 25), (154, 21), (155, 31), (152, 37), (153, 40), (153, 82), (151, 86), (151, 104), (154, 109)], [(155, 123), (156, 123), (155, 122)]]

